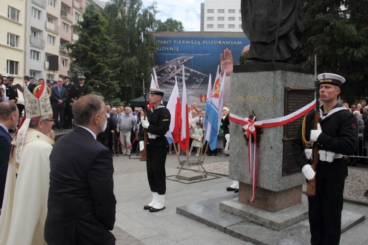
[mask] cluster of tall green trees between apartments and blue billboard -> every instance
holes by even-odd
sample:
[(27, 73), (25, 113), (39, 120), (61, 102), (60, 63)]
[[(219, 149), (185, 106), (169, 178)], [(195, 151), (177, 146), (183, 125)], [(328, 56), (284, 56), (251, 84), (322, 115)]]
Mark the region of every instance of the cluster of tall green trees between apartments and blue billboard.
[[(73, 59), (85, 71), (86, 83), (107, 103), (120, 104), (143, 94), (151, 81), (158, 43), (153, 32), (184, 30), (181, 22), (157, 21), (156, 2), (143, 8), (141, 0), (112, 0), (104, 10), (86, 6), (74, 26), (79, 40), (69, 45)], [(127, 97), (125, 97), (127, 96)]]

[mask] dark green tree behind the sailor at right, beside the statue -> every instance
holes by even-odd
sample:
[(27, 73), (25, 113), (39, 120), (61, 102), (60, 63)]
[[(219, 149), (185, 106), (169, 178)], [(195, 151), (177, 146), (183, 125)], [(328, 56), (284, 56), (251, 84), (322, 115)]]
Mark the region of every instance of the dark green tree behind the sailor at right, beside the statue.
[(318, 73), (345, 77), (343, 99), (352, 102), (367, 98), (368, 0), (302, 2), (305, 25), (302, 53), (306, 57), (317, 54)]

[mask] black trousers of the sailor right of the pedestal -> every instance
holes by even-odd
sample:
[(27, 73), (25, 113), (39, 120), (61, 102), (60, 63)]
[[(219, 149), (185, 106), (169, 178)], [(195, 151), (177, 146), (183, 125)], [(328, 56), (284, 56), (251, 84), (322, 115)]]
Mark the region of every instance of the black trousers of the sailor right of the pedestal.
[(308, 196), (312, 245), (338, 245), (344, 179), (316, 179), (316, 195)]

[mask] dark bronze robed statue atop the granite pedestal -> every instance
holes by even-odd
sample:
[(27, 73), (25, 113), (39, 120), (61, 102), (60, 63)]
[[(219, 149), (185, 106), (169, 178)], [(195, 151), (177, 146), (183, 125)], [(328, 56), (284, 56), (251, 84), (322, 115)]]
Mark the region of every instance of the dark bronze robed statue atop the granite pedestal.
[(242, 29), (250, 40), (247, 63), (295, 63), (301, 44), (301, 0), (241, 0)]

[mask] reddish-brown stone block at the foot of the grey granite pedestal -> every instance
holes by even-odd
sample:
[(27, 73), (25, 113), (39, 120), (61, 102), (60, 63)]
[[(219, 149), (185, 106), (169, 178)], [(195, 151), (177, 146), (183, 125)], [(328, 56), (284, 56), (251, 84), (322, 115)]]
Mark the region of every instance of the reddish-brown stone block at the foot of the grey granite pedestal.
[(298, 185), (280, 192), (256, 187), (257, 198), (250, 201), (252, 186), (239, 182), (239, 202), (269, 212), (277, 212), (299, 204), (302, 201), (302, 185)]

